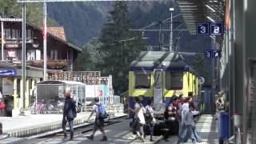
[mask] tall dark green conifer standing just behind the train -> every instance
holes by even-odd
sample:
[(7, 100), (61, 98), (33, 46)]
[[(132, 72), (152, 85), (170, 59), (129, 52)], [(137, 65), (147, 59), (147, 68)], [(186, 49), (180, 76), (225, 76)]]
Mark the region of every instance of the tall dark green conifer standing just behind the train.
[(102, 62), (98, 63), (98, 68), (103, 75), (113, 75), (114, 91), (120, 94), (128, 89), (130, 62), (145, 46), (138, 33), (129, 31), (134, 24), (128, 19), (126, 2), (114, 2), (113, 8), (102, 28), (102, 46), (98, 49)]

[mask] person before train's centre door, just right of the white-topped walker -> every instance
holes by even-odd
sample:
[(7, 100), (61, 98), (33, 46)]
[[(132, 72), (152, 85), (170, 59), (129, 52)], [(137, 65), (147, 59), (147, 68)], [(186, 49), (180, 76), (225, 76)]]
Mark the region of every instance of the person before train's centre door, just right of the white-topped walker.
[(146, 127), (147, 130), (150, 130), (150, 142), (154, 142), (154, 124), (156, 123), (154, 118), (154, 110), (153, 110), (154, 101), (149, 100), (148, 105), (146, 106)]

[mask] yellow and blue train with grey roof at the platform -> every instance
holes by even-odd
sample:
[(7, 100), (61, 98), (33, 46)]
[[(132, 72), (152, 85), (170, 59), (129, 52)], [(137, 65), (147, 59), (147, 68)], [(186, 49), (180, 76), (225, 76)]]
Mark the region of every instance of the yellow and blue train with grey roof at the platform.
[[(163, 110), (174, 95), (184, 97), (193, 92), (198, 99), (201, 92), (199, 77), (178, 52), (142, 51), (130, 63), (128, 105), (134, 108), (134, 98), (143, 95), (142, 104), (154, 100), (154, 113)], [(134, 114), (130, 113), (130, 117)]]

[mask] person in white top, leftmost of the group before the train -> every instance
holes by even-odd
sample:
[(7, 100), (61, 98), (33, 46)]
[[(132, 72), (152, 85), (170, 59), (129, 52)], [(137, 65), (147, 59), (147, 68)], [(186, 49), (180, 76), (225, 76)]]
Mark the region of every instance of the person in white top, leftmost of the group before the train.
[(138, 138), (140, 138), (142, 142), (145, 142), (143, 126), (146, 124), (144, 118), (144, 113), (146, 113), (146, 110), (142, 105), (140, 98), (135, 97), (134, 101), (134, 109), (129, 108), (128, 110), (135, 114), (133, 128), (135, 129)]

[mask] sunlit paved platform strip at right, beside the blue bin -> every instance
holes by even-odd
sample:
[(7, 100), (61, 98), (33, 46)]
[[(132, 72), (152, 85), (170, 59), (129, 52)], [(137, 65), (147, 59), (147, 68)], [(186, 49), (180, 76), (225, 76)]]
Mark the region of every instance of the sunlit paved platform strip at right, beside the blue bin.
[[(200, 144), (218, 144), (218, 121), (210, 114), (202, 114), (196, 123), (198, 133), (202, 137)], [(168, 138), (169, 142), (162, 141), (160, 143), (177, 143), (178, 136)], [(191, 140), (186, 143), (192, 143)]]

